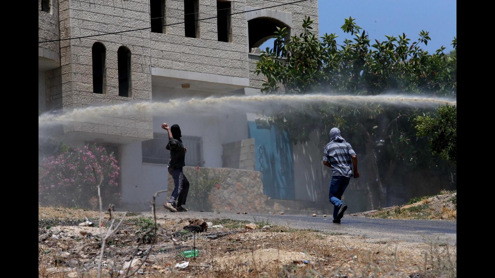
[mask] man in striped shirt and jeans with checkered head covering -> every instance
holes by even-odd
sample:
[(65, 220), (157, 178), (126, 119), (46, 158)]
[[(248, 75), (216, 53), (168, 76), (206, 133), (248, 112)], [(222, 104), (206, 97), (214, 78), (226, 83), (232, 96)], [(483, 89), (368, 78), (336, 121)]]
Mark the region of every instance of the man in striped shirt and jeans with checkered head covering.
[[(359, 177), (357, 156), (350, 144), (341, 137), (337, 127), (330, 130), (330, 140), (323, 151), (323, 165), (332, 168), (328, 197), (330, 202), (334, 204), (333, 222), (340, 224), (347, 209), (347, 205), (342, 201), (342, 195), (349, 184), (350, 177)], [(353, 170), (351, 166), (354, 166)]]

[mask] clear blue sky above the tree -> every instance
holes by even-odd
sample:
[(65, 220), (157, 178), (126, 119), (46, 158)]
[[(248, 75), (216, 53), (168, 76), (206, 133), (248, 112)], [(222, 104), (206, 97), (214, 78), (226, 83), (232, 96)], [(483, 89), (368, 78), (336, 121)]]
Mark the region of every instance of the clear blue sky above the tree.
[[(440, 46), (446, 52), (457, 36), (457, 4), (455, 0), (318, 0), (319, 32), (336, 33), (342, 42), (351, 38), (340, 27), (344, 19), (351, 16), (366, 30), (371, 41), (385, 40), (385, 35), (402, 35), (417, 40), (421, 30), (430, 32), (431, 41), (423, 49), (430, 53)], [(273, 41), (267, 41), (261, 49), (273, 47)]]

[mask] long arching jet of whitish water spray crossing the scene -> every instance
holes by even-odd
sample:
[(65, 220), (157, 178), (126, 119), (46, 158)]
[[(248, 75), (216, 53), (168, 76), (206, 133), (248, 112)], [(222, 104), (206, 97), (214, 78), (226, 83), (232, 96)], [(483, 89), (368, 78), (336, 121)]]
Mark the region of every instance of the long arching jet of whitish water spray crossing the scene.
[(95, 122), (102, 117), (129, 118), (133, 115), (167, 116), (172, 113), (211, 115), (218, 111), (234, 110), (244, 113), (260, 113), (280, 105), (300, 105), (304, 103), (330, 103), (359, 108), (363, 105), (380, 104), (416, 108), (435, 108), (440, 105), (456, 105), (455, 99), (431, 98), (412, 95), (252, 95), (173, 99), (168, 102), (128, 102), (107, 106), (92, 106), (74, 109), (61, 115), (44, 114), (38, 118), (38, 126), (48, 126), (68, 122)]

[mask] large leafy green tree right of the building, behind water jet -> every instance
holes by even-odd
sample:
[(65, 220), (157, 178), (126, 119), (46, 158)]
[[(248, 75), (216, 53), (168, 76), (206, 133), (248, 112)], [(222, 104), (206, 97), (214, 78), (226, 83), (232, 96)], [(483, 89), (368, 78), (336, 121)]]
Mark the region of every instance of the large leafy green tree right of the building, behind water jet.
[[(266, 77), (262, 92), (351, 95), (394, 92), (439, 97), (457, 94), (456, 38), (452, 41), (453, 52), (446, 54), (442, 46), (430, 54), (421, 48), (431, 40), (426, 31), (421, 31), (414, 41), (405, 34), (372, 41), (349, 17), (342, 30), (353, 37), (341, 45), (335, 34), (318, 38), (311, 32), (312, 23), (309, 17), (304, 20), (302, 33), (292, 36), (290, 41), (285, 41), (286, 28), (275, 33), (276, 50), (267, 48), (256, 65), (256, 74)], [(400, 175), (400, 171), (415, 167), (447, 169), (447, 165), (429, 156), (426, 139), (415, 134), (413, 120), (434, 113), (373, 102), (359, 107), (347, 103), (308, 103), (287, 106), (265, 121), (288, 132), (295, 144), (309, 140), (314, 130), (320, 132), (321, 143), (328, 142), (330, 129), (339, 127), (355, 149), (363, 147), (361, 154), (369, 159), (367, 165), (373, 176), (368, 177), (368, 188), (383, 193), (372, 198), (373, 206), (377, 207), (385, 205), (386, 187), (396, 182), (393, 177)], [(377, 142), (383, 142), (384, 146), (377, 147)]]

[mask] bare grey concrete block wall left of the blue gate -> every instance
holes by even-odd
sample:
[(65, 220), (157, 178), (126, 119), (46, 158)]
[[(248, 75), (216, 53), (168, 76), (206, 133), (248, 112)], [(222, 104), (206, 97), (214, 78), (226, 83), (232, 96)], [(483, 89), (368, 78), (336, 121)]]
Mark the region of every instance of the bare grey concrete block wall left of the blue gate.
[(254, 171), (254, 138), (223, 145), (223, 167)]

